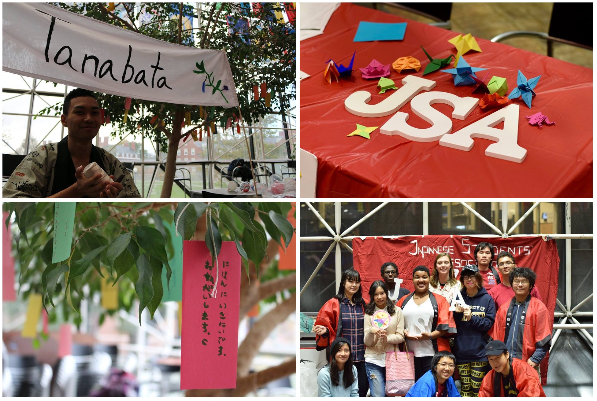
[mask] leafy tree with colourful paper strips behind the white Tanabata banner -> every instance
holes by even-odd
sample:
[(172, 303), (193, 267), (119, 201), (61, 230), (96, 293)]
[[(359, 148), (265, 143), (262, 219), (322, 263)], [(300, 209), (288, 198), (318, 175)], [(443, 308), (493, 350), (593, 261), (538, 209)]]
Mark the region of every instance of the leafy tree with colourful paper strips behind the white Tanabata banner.
[[(242, 119), (249, 125), (273, 110), (284, 112), (290, 109), (291, 100), (296, 98), (296, 22), (278, 23), (274, 14), (285, 11), (285, 7), (293, 7), (292, 3), (255, 3), (260, 4), (257, 8), (243, 6), (249, 3), (202, 3), (199, 27), (193, 29), (183, 28), (184, 18), (192, 18), (193, 8), (189, 4), (117, 3), (114, 10), (109, 10), (106, 3), (53, 4), (161, 41), (226, 51)], [(200, 68), (198, 73), (202, 73)], [(253, 98), (253, 87), (262, 83), (272, 94), (270, 106), (266, 106), (263, 98)], [(216, 90), (214, 86), (213, 91)], [(106, 109), (115, 128), (112, 137), (124, 138), (143, 129), (146, 137), (162, 152), (167, 152), (161, 198), (171, 196), (180, 141), (189, 132), (205, 129), (212, 122), (219, 127), (217, 129), (223, 129), (228, 119), (235, 121), (241, 117), (235, 108), (184, 106), (136, 99), (131, 103), (127, 122), (123, 122), (125, 98), (100, 94), (98, 102)], [(62, 102), (59, 102), (39, 113), (60, 115), (61, 106)], [(193, 124), (181, 128), (185, 112), (191, 113)]]

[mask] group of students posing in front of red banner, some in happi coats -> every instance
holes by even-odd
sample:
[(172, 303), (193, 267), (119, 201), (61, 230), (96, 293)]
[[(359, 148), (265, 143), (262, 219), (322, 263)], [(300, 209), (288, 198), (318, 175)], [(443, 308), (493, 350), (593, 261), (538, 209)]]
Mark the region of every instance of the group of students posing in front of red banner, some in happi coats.
[[(318, 372), (319, 396), (365, 397), (368, 390), (372, 397), (386, 396), (386, 352), (403, 343), (414, 353), (416, 383), (407, 396), (545, 396), (538, 365), (552, 330), (537, 276), (500, 252), (500, 279), (491, 266), (494, 256), (490, 243), (479, 243), (476, 266), (464, 266), (457, 280), (450, 255), (438, 254), (433, 274), (425, 266), (413, 270), (413, 292), (396, 291), (398, 268), (384, 263), (383, 281), (371, 284), (369, 303), (359, 273), (346, 270), (338, 294), (313, 325), (318, 350), (331, 350)], [(457, 292), (464, 304), (450, 311)], [(371, 323), (378, 310), (390, 315), (385, 329)], [(460, 392), (452, 377), (456, 368)]]

